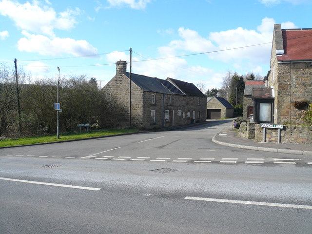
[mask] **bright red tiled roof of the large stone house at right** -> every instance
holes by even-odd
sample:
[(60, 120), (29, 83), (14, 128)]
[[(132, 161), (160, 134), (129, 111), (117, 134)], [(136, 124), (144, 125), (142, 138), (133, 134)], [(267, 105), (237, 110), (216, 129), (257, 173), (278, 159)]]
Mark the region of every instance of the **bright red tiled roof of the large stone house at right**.
[(284, 54), (278, 61), (312, 59), (312, 29), (282, 30)]

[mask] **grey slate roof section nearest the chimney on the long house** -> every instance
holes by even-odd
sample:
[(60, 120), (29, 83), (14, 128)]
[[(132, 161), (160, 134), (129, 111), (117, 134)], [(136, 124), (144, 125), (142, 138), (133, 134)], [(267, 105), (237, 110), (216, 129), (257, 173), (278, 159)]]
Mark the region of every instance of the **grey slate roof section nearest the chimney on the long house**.
[[(126, 72), (125, 75), (129, 78), (129, 72)], [(131, 73), (131, 80), (143, 91), (161, 94), (175, 94), (162, 85), (157, 78)]]

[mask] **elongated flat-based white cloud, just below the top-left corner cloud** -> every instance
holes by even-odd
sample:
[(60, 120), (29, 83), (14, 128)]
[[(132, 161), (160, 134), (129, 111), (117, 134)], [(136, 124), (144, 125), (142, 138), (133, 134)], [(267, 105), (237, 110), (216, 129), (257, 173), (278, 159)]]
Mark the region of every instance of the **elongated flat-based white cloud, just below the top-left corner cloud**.
[(29, 34), (23, 31), (25, 36), (18, 41), (20, 51), (39, 53), (40, 55), (59, 56), (69, 54), (84, 56), (98, 54), (98, 50), (85, 40), (71, 38), (49, 39), (46, 36)]

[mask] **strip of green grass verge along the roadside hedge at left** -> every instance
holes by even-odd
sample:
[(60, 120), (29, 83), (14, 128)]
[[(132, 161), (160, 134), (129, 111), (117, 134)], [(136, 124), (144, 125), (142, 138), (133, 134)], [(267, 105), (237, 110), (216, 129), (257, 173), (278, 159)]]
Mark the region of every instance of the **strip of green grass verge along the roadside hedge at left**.
[(74, 139), (82, 139), (82, 138), (89, 138), (89, 137), (102, 137), (102, 136), (116, 135), (116, 134), (122, 134), (122, 133), (134, 133), (134, 132), (138, 132), (138, 130), (137, 129), (107, 129), (107, 130), (91, 131), (88, 133), (71, 132), (71, 133), (61, 134), (59, 136), (59, 139), (57, 139), (56, 135), (5, 139), (5, 140), (0, 141), (0, 147), (15, 146), (15, 145), (29, 145), (29, 144), (37, 144), (37, 143), (63, 141), (63, 140), (74, 140)]

